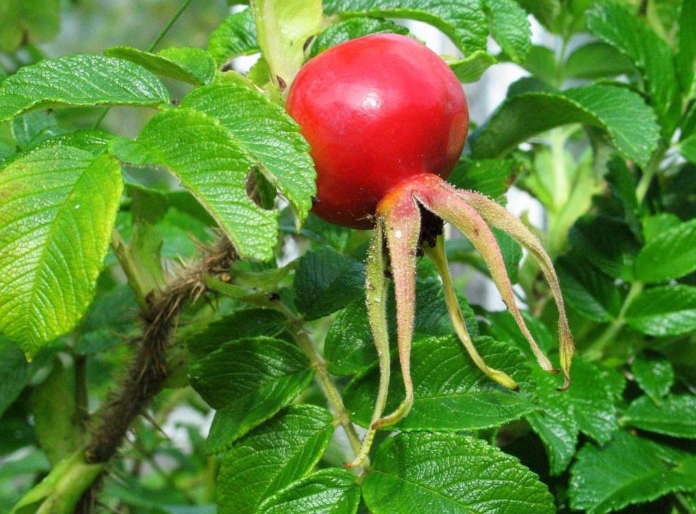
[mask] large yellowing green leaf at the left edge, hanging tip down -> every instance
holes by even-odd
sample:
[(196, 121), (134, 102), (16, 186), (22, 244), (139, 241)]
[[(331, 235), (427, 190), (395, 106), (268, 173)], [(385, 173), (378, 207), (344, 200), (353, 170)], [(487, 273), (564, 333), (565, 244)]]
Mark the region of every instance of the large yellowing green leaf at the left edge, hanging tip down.
[(0, 173), (0, 318), (28, 356), (92, 301), (121, 200), (113, 157), (40, 149)]

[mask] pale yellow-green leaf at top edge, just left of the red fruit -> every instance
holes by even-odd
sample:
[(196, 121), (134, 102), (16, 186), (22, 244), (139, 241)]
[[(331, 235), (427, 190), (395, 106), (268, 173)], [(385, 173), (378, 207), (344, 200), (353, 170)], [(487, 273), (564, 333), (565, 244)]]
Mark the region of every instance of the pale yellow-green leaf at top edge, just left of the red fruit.
[(291, 85), (305, 62), (307, 39), (322, 30), (322, 0), (251, 0), (259, 46), (271, 78)]

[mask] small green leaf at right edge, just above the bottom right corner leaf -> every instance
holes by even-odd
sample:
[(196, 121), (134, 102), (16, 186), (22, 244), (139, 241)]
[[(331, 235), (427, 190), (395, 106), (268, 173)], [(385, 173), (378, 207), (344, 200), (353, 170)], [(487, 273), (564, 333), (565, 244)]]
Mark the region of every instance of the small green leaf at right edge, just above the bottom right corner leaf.
[(666, 396), (659, 405), (641, 396), (630, 404), (623, 421), (647, 432), (696, 439), (696, 396)]

